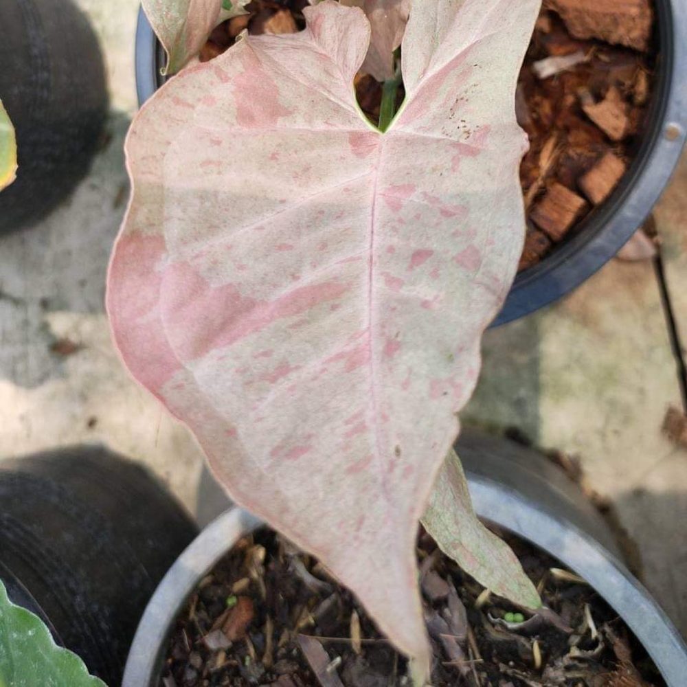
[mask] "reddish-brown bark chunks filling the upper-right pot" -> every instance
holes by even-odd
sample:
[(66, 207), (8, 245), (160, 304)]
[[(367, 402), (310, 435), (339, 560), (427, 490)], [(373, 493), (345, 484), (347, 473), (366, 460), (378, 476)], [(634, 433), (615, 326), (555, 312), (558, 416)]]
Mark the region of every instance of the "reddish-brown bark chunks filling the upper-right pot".
[[(633, 2), (645, 3), (651, 16), (650, 0)], [(530, 151), (520, 170), (528, 218), (520, 271), (545, 258), (605, 203), (639, 150), (651, 104), (655, 38), (646, 36), (640, 42), (642, 50), (611, 45), (602, 40), (607, 30), (602, 24), (601, 38), (574, 38), (550, 9), (571, 4), (574, 0), (545, 0), (519, 78), (517, 116), (530, 137)], [(609, 20), (614, 35), (622, 36), (625, 24), (629, 32), (635, 30), (631, 11), (623, 10), (622, 3), (598, 4), (607, 18), (609, 12), (618, 12)], [(302, 30), (307, 5), (308, 0), (254, 0), (247, 6), (249, 15), (214, 30), (201, 60), (224, 52), (244, 29), (251, 34)], [(588, 23), (594, 30), (594, 19)], [(638, 45), (636, 40), (629, 42)], [(556, 60), (568, 60), (568, 66)], [(542, 69), (554, 73), (546, 76)], [(376, 124), (382, 85), (359, 74), (356, 91), (361, 109)], [(398, 104), (402, 100), (403, 87)]]

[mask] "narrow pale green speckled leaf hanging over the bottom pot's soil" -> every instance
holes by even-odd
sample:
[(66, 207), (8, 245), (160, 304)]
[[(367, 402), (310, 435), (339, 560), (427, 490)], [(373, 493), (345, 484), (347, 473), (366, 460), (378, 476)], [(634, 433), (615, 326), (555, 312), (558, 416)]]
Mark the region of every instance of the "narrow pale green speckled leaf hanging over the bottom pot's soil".
[(439, 471), (422, 523), (444, 554), (493, 594), (525, 608), (541, 606), (537, 589), (508, 544), (477, 519), (453, 449)]

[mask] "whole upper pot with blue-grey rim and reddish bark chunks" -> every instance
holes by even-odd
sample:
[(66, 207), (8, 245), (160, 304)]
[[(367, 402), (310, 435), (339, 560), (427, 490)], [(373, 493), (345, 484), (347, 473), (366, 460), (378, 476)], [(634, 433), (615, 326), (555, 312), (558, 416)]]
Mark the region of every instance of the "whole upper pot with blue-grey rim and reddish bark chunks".
[[(240, 32), (300, 30), (306, 0), (254, 0), (220, 25), (210, 60)], [(136, 82), (143, 103), (164, 84), (164, 50), (143, 12)], [(544, 0), (519, 80), (530, 136), (521, 166), (528, 231), (495, 324), (569, 293), (612, 258), (657, 201), (687, 135), (687, 4), (683, 0)], [(361, 108), (379, 120), (382, 85), (359, 75)]]

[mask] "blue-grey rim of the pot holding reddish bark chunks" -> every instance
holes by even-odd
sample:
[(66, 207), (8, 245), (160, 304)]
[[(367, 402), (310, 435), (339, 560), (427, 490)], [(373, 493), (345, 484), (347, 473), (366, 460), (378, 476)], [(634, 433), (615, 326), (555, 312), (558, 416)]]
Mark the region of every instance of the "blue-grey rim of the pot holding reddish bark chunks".
[[(644, 142), (618, 188), (570, 238), (515, 278), (494, 325), (570, 293), (610, 260), (642, 225), (666, 187), (687, 136), (687, 4), (655, 0), (660, 60)], [(136, 86), (143, 104), (164, 84), (164, 50), (144, 12), (136, 32)]]

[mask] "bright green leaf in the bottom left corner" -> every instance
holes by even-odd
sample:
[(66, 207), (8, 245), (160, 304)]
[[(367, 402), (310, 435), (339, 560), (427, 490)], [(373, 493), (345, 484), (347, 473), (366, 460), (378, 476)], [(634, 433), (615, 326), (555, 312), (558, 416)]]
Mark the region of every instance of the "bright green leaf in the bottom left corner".
[(0, 581), (0, 687), (106, 687), (57, 646), (43, 621), (15, 606)]

